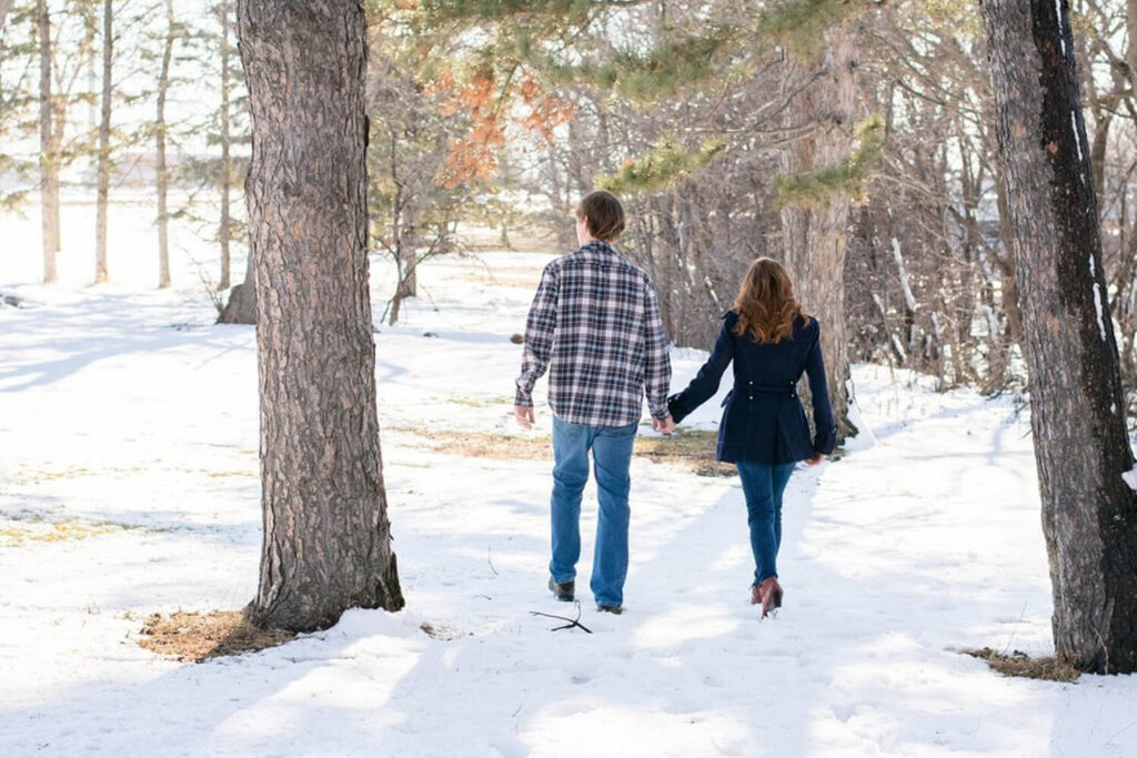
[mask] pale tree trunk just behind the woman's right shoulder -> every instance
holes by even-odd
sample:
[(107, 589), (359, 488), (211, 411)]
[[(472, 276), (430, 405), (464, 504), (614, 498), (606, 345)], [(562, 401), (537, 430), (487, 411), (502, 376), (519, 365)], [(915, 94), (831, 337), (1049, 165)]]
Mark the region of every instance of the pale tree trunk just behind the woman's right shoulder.
[[(797, 120), (813, 120), (813, 135), (795, 141), (783, 153), (787, 174), (836, 166), (853, 149), (856, 125), (857, 42), (845, 26), (829, 32), (830, 45), (821, 76), (796, 101)], [(792, 67), (799, 64), (792, 63)], [(791, 76), (796, 80), (796, 76)], [(792, 82), (792, 85), (798, 85)], [(806, 310), (821, 323), (829, 394), (838, 440), (856, 434), (849, 419), (848, 336), (845, 328), (845, 253), (848, 249), (849, 198), (835, 192), (813, 207), (787, 206), (781, 213), (786, 266)]]

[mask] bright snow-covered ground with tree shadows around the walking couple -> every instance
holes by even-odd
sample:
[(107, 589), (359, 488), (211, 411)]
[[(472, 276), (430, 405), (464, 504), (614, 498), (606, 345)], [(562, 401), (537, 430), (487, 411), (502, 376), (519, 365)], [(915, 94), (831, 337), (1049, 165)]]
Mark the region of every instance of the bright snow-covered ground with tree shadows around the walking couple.
[[(93, 228), (68, 214), (65, 235)], [(215, 263), (189, 235), (180, 289), (147, 289), (136, 209), (113, 217), (108, 285), (85, 286), (81, 247), (64, 284), (28, 284), (35, 227), (0, 217), (0, 293), (26, 299), (0, 308), (0, 755), (1137, 755), (1134, 677), (1011, 680), (960, 653), (1051, 651), (1029, 423), (1012, 399), (887, 369), (855, 370), (854, 449), (790, 483), (777, 619), (747, 602), (737, 480), (636, 459), (626, 613), (592, 610), (586, 550), (595, 633), (549, 631), (530, 611), (571, 608), (545, 588), (549, 463), (431, 449), (449, 431), (526, 434), (508, 338), (538, 255), (433, 261), (376, 335), (406, 610), (351, 610), (235, 658), (159, 658), (138, 645), (148, 614), (254, 594), (254, 331), (213, 325), (192, 259)], [(377, 315), (381, 261), (373, 278)], [(700, 359), (674, 352), (675, 389)], [(548, 434), (542, 411), (528, 434)]]

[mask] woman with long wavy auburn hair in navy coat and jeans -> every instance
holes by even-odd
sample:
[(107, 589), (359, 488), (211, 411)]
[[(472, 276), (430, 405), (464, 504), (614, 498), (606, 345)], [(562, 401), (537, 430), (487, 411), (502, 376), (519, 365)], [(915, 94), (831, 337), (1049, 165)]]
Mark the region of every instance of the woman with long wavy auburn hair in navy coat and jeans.
[[(733, 363), (735, 388), (723, 402), (715, 457), (735, 464), (742, 480), (755, 563), (750, 603), (762, 603), (763, 618), (782, 601), (777, 567), (782, 492), (797, 461), (816, 466), (837, 439), (820, 334), (816, 319), (795, 299), (786, 267), (758, 258), (723, 316), (711, 357), (690, 385), (667, 400), (675, 423), (681, 422), (719, 391)], [(803, 372), (813, 398), (813, 440), (797, 398)]]

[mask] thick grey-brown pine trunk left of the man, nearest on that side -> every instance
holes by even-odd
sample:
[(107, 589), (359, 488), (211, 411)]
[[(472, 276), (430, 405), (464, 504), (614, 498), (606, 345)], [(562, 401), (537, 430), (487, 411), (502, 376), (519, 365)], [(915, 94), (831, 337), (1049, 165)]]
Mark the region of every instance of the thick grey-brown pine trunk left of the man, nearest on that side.
[(242, 0), (265, 538), (249, 606), (315, 630), (402, 607), (380, 458), (359, 2)]

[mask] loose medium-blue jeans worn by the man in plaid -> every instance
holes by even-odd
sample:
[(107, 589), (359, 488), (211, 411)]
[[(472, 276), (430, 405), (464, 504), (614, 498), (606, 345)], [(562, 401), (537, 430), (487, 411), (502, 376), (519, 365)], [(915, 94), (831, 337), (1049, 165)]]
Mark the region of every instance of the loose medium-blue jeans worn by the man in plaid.
[(636, 424), (583, 426), (553, 417), (553, 560), (549, 573), (563, 584), (576, 578), (580, 559), (580, 501), (588, 482), (588, 453), (596, 461), (600, 503), (592, 556), (592, 597), (597, 605), (620, 606), (628, 576), (628, 466)]

